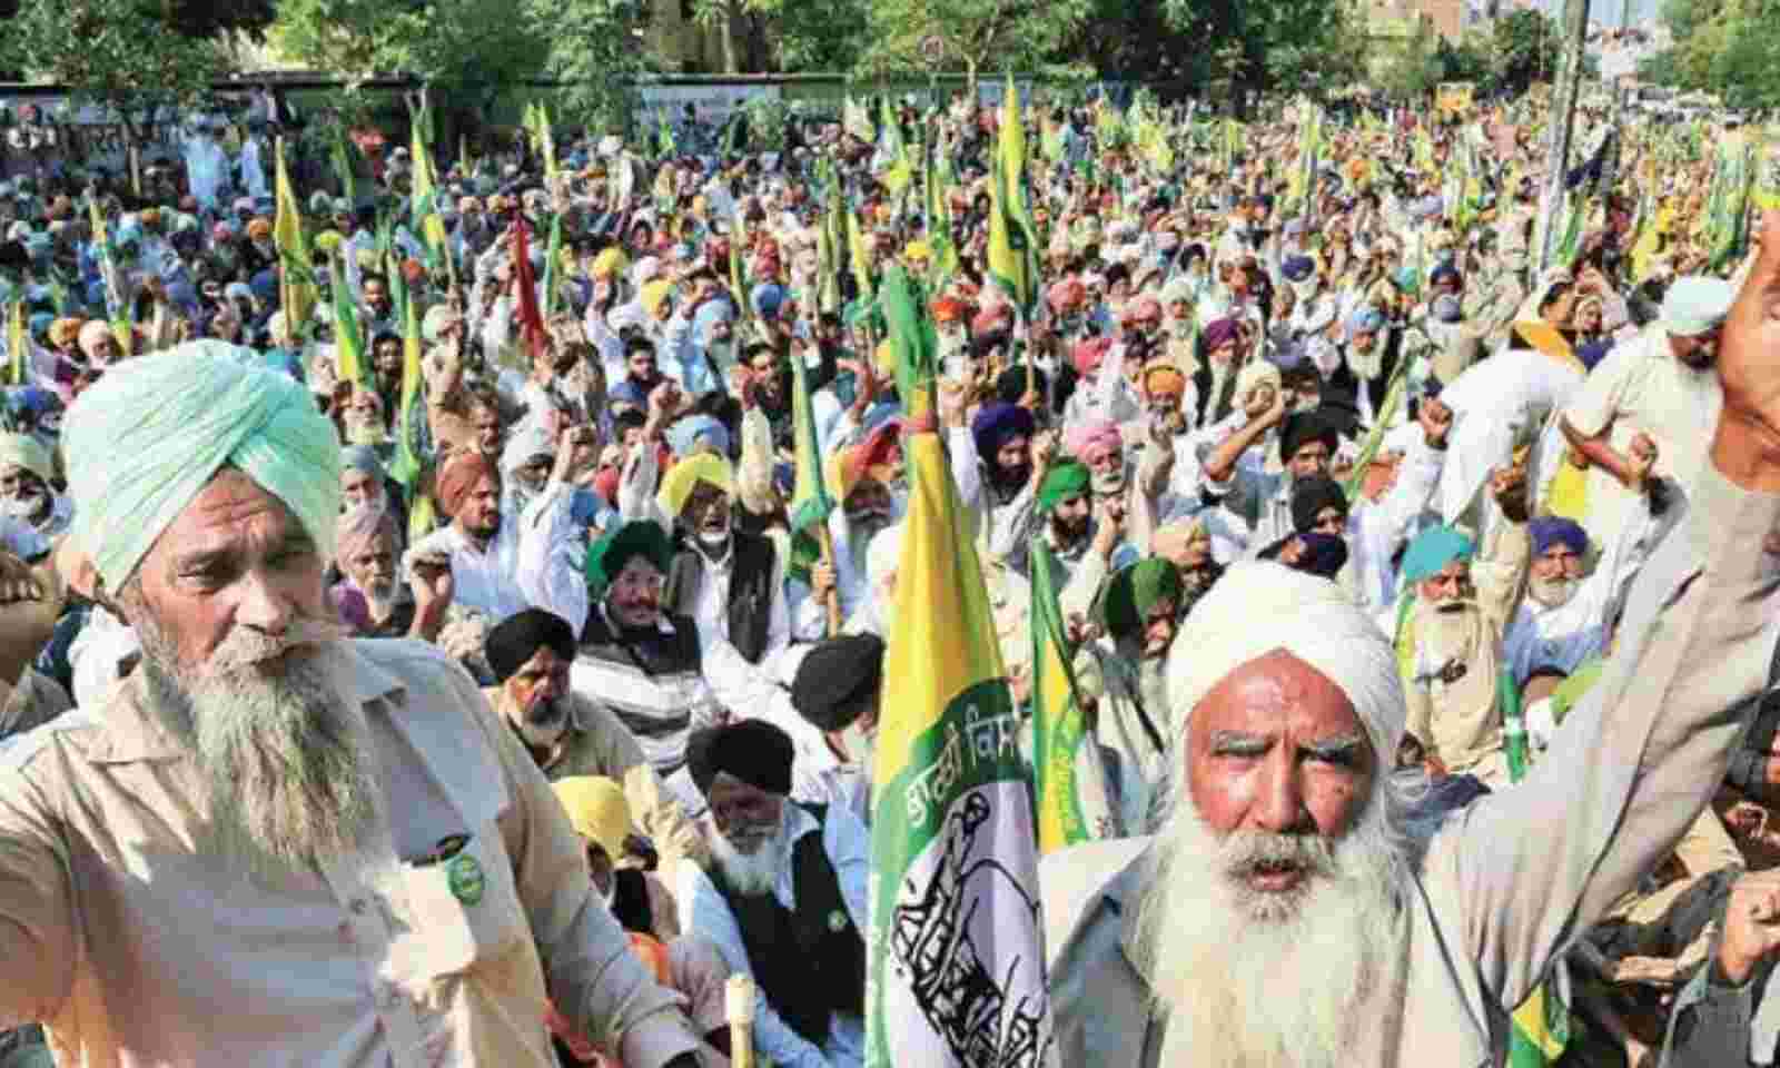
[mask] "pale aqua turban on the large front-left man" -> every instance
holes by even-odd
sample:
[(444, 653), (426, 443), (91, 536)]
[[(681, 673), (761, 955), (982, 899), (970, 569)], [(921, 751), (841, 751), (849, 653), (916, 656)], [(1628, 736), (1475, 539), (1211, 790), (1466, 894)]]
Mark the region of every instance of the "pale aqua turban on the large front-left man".
[(340, 438), (308, 390), (246, 365), (235, 345), (206, 338), (116, 365), (80, 393), (62, 440), (75, 536), (110, 591), (224, 465), (335, 554)]

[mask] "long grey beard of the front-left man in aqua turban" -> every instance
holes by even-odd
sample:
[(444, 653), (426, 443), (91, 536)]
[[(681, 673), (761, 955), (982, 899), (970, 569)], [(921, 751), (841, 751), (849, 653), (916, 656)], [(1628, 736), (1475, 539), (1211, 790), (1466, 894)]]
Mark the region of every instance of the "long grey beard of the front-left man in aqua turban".
[(336, 628), (301, 619), (272, 639), (235, 627), (187, 668), (141, 598), (130, 623), (148, 703), (198, 764), (222, 856), (278, 878), (361, 849), (379, 808), (376, 762), (363, 710), (324, 664)]

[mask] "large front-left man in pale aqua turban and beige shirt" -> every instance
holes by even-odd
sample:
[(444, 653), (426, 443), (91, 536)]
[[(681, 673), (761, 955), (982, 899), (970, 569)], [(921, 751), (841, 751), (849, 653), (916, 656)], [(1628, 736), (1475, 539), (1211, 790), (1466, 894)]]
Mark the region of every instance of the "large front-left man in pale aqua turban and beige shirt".
[(185, 345), (66, 443), (142, 660), (7, 756), (0, 1027), (80, 1064), (541, 1068), (548, 997), (627, 1064), (694, 1064), (473, 682), (326, 621), (340, 443), (301, 386)]

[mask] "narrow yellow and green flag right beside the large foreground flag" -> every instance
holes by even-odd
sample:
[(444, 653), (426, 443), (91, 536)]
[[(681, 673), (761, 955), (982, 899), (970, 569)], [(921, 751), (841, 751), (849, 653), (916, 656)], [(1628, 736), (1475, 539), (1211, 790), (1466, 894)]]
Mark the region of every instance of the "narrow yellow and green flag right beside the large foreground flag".
[(1038, 851), (1104, 838), (1111, 828), (1100, 748), (1075, 691), (1070, 643), (1057, 607), (1056, 564), (1043, 538), (1032, 539), (1032, 792)]

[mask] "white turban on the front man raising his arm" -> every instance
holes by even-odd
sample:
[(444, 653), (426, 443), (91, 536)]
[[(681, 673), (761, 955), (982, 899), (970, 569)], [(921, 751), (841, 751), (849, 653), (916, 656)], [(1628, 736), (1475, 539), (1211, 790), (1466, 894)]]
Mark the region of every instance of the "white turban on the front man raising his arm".
[(1178, 737), (1214, 685), (1274, 650), (1310, 664), (1347, 694), (1380, 748), (1380, 767), (1390, 767), (1408, 717), (1390, 641), (1340, 586), (1271, 561), (1234, 564), (1175, 635), (1168, 703)]

